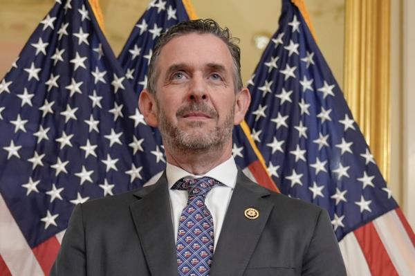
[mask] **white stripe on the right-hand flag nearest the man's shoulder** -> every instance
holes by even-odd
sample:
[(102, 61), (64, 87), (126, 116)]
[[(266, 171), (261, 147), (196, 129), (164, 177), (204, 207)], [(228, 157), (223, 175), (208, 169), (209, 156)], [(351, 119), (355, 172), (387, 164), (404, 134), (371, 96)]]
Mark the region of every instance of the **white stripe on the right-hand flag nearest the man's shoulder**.
[(342, 251), (342, 256), (344, 264), (346, 265), (347, 275), (349, 276), (370, 276), (369, 266), (365, 255), (363, 255), (362, 250), (358, 240), (356, 239), (353, 232), (347, 234), (340, 242), (340, 251)]

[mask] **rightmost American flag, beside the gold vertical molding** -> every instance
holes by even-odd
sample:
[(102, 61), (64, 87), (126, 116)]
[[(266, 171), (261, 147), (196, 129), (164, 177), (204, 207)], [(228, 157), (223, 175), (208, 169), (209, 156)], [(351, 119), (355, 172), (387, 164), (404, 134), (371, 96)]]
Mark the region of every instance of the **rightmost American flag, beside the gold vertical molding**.
[(349, 275), (413, 275), (414, 233), (292, 1), (248, 83), (268, 172), (283, 194), (328, 210)]

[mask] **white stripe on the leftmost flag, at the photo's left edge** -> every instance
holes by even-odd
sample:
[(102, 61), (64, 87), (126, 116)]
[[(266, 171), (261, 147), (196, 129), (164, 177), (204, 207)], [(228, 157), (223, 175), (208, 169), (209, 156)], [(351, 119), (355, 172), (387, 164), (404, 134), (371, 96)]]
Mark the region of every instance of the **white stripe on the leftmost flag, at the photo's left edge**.
[(1, 194), (0, 241), (0, 255), (12, 275), (44, 275)]

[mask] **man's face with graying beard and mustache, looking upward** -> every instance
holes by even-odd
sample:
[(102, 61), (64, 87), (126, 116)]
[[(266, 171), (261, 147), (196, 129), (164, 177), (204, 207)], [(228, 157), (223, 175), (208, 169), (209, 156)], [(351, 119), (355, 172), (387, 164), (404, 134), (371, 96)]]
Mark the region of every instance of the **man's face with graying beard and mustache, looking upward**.
[(204, 151), (231, 142), (236, 95), (228, 47), (210, 34), (173, 38), (157, 61), (156, 118), (163, 140)]

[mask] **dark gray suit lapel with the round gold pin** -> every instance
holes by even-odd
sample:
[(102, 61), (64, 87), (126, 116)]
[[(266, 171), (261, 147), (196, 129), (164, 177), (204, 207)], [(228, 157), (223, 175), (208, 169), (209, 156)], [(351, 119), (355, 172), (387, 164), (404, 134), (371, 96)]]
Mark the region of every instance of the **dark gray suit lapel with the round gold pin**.
[[(243, 274), (273, 209), (273, 204), (263, 199), (268, 194), (268, 190), (252, 183), (239, 171), (237, 185), (214, 252), (210, 275)], [(246, 218), (244, 211), (248, 208), (255, 208), (259, 217)]]

